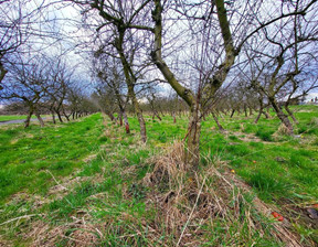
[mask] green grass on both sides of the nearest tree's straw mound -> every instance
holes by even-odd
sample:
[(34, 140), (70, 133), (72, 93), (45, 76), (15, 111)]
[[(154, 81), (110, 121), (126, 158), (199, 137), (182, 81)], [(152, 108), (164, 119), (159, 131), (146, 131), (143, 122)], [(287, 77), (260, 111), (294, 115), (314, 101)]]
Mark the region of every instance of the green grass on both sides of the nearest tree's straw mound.
[[(208, 118), (202, 125), (202, 164), (215, 160), (215, 157), (227, 161), (262, 200), (279, 207), (317, 202), (318, 110), (304, 106), (303, 112), (299, 109), (296, 116), (300, 124), (296, 131), (303, 138), (283, 137), (280, 141), (273, 141), (272, 136), (279, 126), (277, 119), (262, 119), (254, 125), (251, 122), (255, 116), (225, 117), (221, 122), (229, 132), (222, 135), (215, 130), (212, 118)], [(130, 122), (134, 130), (138, 129), (136, 119), (130, 119)], [(38, 215), (28, 221), (4, 224), (0, 228), (3, 238), (12, 240), (14, 246), (28, 246), (34, 236), (22, 233), (30, 230), (33, 223), (40, 221), (51, 228), (56, 225), (64, 227), (74, 221), (72, 216), (80, 217), (78, 212), (86, 212), (89, 215), (87, 221), (94, 225), (109, 223), (109, 227), (103, 228), (103, 241), (110, 246), (124, 246), (128, 240), (121, 238), (123, 235), (145, 230), (141, 222), (156, 218), (156, 210), (145, 201), (151, 187), (140, 185), (139, 181), (151, 170), (148, 158), (169, 147), (174, 139), (183, 138), (187, 119), (182, 117), (173, 125), (167, 116), (162, 122), (147, 118), (147, 146), (139, 142), (136, 130), (126, 136), (123, 128), (108, 124), (103, 132), (99, 115), (42, 129), (38, 126), (28, 130), (21, 127), (1, 128), (0, 224), (23, 215)], [(252, 139), (250, 133), (265, 141)], [(89, 154), (97, 157), (89, 159)], [(56, 182), (68, 190), (60, 190)], [(55, 191), (52, 190), (54, 185)], [(124, 214), (134, 216), (137, 223), (129, 217), (123, 218)], [(214, 225), (211, 228), (214, 234), (209, 236), (208, 246), (230, 245), (232, 238), (225, 237), (222, 224), (220, 222), (218, 227)], [(317, 237), (317, 230), (309, 229), (306, 224), (295, 223), (295, 226), (305, 239)], [(237, 229), (234, 227), (231, 230), (235, 233)], [(243, 235), (239, 236), (237, 245), (244, 240), (276, 246), (271, 236)], [(173, 243), (172, 235), (161, 236), (158, 243), (163, 238), (171, 238)], [(147, 234), (138, 235), (137, 239), (141, 246), (148, 243)], [(61, 246), (66, 241), (65, 238), (59, 240)]]

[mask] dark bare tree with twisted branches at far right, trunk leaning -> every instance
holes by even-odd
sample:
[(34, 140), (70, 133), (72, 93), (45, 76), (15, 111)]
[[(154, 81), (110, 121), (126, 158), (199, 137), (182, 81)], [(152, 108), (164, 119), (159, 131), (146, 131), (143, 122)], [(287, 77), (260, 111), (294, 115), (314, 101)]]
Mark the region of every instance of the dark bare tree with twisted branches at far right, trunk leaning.
[[(300, 1), (285, 4), (294, 12), (299, 11)], [(301, 86), (304, 76), (308, 78), (314, 64), (317, 63), (315, 57), (317, 57), (318, 29), (314, 24), (315, 20), (312, 13), (307, 18), (290, 15), (284, 22), (275, 23), (271, 29), (264, 28), (258, 34), (258, 41), (251, 42), (246, 50), (251, 66), (251, 69), (245, 73), (246, 77), (252, 77), (252, 86), (261, 97), (266, 96), (290, 135), (294, 129), (288, 116), (297, 122), (288, 108), (290, 100), (317, 87), (317, 84), (310, 82), (307, 86)], [(282, 103), (287, 114), (282, 109)]]

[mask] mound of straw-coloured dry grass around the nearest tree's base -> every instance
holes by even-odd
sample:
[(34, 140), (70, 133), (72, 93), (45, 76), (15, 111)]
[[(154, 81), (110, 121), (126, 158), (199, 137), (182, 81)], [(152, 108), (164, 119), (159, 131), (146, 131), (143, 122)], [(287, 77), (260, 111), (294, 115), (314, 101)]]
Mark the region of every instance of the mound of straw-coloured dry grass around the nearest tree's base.
[[(211, 229), (220, 222), (226, 229), (236, 227), (237, 234), (234, 236), (230, 230), (222, 236), (232, 243), (230, 246), (244, 245), (255, 232), (261, 236), (267, 233), (268, 236), (268, 218), (273, 207), (257, 197), (252, 203), (247, 201), (245, 194), (251, 194), (251, 187), (231, 172), (220, 173), (212, 165), (202, 172), (191, 171), (182, 162), (183, 150), (182, 143), (173, 143), (167, 155), (155, 159), (152, 172), (144, 179), (146, 185), (153, 187), (147, 197), (147, 203), (155, 204), (158, 210), (153, 228), (157, 234), (161, 232), (161, 236), (173, 236), (170, 243), (165, 244), (206, 245)], [(229, 170), (226, 167), (222, 169)], [(267, 219), (267, 225), (263, 224), (262, 217)], [(160, 225), (165, 225), (165, 228)], [(287, 222), (285, 225), (273, 223), (272, 234), (288, 246), (300, 246), (289, 227)], [(215, 244), (221, 244), (221, 239)]]

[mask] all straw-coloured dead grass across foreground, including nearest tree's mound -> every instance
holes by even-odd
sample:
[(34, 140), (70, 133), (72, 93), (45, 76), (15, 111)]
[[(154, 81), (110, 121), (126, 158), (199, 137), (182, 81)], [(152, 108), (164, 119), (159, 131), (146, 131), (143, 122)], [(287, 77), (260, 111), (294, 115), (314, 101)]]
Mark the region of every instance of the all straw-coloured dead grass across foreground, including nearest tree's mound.
[[(231, 229), (234, 225), (236, 227), (237, 234), (226, 230), (222, 236), (229, 239), (227, 246), (244, 246), (245, 239), (240, 236), (243, 232), (247, 236), (245, 238), (252, 238), (255, 232), (265, 237), (268, 229), (278, 241), (288, 247), (304, 246), (299, 243), (299, 236), (290, 230), (288, 219), (280, 223), (272, 218), (272, 212), (279, 213), (278, 208), (265, 204), (256, 196), (252, 203), (245, 198), (245, 194), (254, 194), (252, 189), (231, 173), (226, 163), (214, 160), (202, 171), (193, 172), (182, 161), (183, 150), (181, 142), (174, 142), (166, 149), (165, 154), (148, 161), (153, 164), (153, 169), (146, 174), (142, 183), (150, 189), (146, 195), (146, 206), (156, 208), (155, 218), (140, 219), (134, 213), (121, 212), (118, 217), (109, 216), (100, 223), (94, 222), (89, 215), (93, 208), (89, 208), (88, 212), (77, 212), (75, 216), (71, 216), (71, 223), (68, 221), (59, 226), (47, 224), (50, 219), (45, 218), (38, 217), (33, 222), (30, 219), (25, 230), (22, 230), (22, 238), (34, 247), (51, 247), (57, 243), (63, 246), (86, 247), (100, 246), (108, 234), (116, 232), (118, 239), (129, 243), (129, 246), (140, 245), (138, 239), (142, 237), (147, 238), (147, 246), (201, 246), (206, 243), (206, 236), (211, 235), (215, 223), (221, 221), (225, 229)], [(135, 167), (128, 168), (124, 175), (135, 171)], [(62, 196), (84, 180), (80, 176), (61, 182), (56, 180), (56, 185), (47, 194)], [(123, 189), (123, 194), (125, 198), (131, 197), (127, 187)], [(91, 197), (106, 198), (108, 194), (99, 193)], [(259, 215), (268, 219), (266, 224), (272, 219), (272, 228), (262, 223)], [(126, 224), (118, 226), (117, 222)], [(0, 239), (0, 246), (1, 244)], [(10, 246), (9, 244), (4, 243), (2, 246)]]

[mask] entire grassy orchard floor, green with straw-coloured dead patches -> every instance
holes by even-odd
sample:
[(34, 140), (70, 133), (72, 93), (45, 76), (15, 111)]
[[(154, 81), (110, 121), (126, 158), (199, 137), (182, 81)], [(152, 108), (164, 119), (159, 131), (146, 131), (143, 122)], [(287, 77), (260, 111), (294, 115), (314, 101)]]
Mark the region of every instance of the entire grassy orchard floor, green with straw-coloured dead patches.
[(257, 197), (301, 246), (315, 246), (307, 210), (318, 203), (318, 107), (294, 110), (295, 137), (277, 131), (275, 117), (223, 116), (225, 133), (208, 117), (194, 181), (178, 164), (186, 116), (146, 116), (147, 144), (134, 117), (131, 135), (99, 114), (2, 126), (0, 246), (284, 246)]

